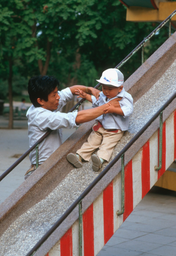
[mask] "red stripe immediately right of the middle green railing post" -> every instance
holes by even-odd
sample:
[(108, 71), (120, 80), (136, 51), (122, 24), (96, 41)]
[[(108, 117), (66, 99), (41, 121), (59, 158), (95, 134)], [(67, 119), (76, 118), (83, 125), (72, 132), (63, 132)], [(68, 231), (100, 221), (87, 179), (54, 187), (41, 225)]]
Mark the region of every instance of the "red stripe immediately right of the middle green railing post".
[(133, 171), (132, 160), (125, 166), (124, 175), (124, 221), (133, 211)]

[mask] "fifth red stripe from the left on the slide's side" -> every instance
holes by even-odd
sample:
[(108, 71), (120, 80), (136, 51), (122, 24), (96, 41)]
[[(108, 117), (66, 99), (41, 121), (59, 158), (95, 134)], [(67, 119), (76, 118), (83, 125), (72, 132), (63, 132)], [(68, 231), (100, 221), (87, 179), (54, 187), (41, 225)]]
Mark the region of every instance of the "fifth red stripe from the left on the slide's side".
[(150, 143), (149, 143), (149, 140), (142, 147), (141, 179), (142, 179), (142, 198), (143, 198), (150, 190)]

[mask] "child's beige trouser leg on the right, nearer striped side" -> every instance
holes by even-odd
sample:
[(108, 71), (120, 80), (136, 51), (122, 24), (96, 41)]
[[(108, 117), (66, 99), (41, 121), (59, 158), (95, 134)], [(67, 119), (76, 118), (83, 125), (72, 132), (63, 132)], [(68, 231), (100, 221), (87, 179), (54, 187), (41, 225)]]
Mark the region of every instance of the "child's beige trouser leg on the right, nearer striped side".
[(121, 139), (123, 134), (124, 131), (121, 130), (118, 130), (117, 133), (111, 132), (109, 130), (104, 130), (103, 140), (97, 152), (98, 157), (109, 161), (115, 145)]

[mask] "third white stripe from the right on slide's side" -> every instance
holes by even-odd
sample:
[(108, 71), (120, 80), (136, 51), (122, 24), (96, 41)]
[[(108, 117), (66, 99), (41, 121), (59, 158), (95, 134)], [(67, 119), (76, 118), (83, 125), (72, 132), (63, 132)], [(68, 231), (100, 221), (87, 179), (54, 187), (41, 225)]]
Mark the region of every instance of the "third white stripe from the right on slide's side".
[(141, 181), (141, 154), (139, 150), (133, 157), (132, 170), (133, 170), (133, 209), (142, 199), (142, 181)]

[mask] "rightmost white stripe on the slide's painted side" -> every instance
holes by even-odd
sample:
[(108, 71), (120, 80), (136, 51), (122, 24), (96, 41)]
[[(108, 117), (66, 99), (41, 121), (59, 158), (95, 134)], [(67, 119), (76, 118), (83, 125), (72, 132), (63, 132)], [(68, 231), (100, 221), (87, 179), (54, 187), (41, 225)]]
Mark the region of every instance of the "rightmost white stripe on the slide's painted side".
[(174, 161), (174, 124), (173, 113), (166, 120), (166, 170)]

